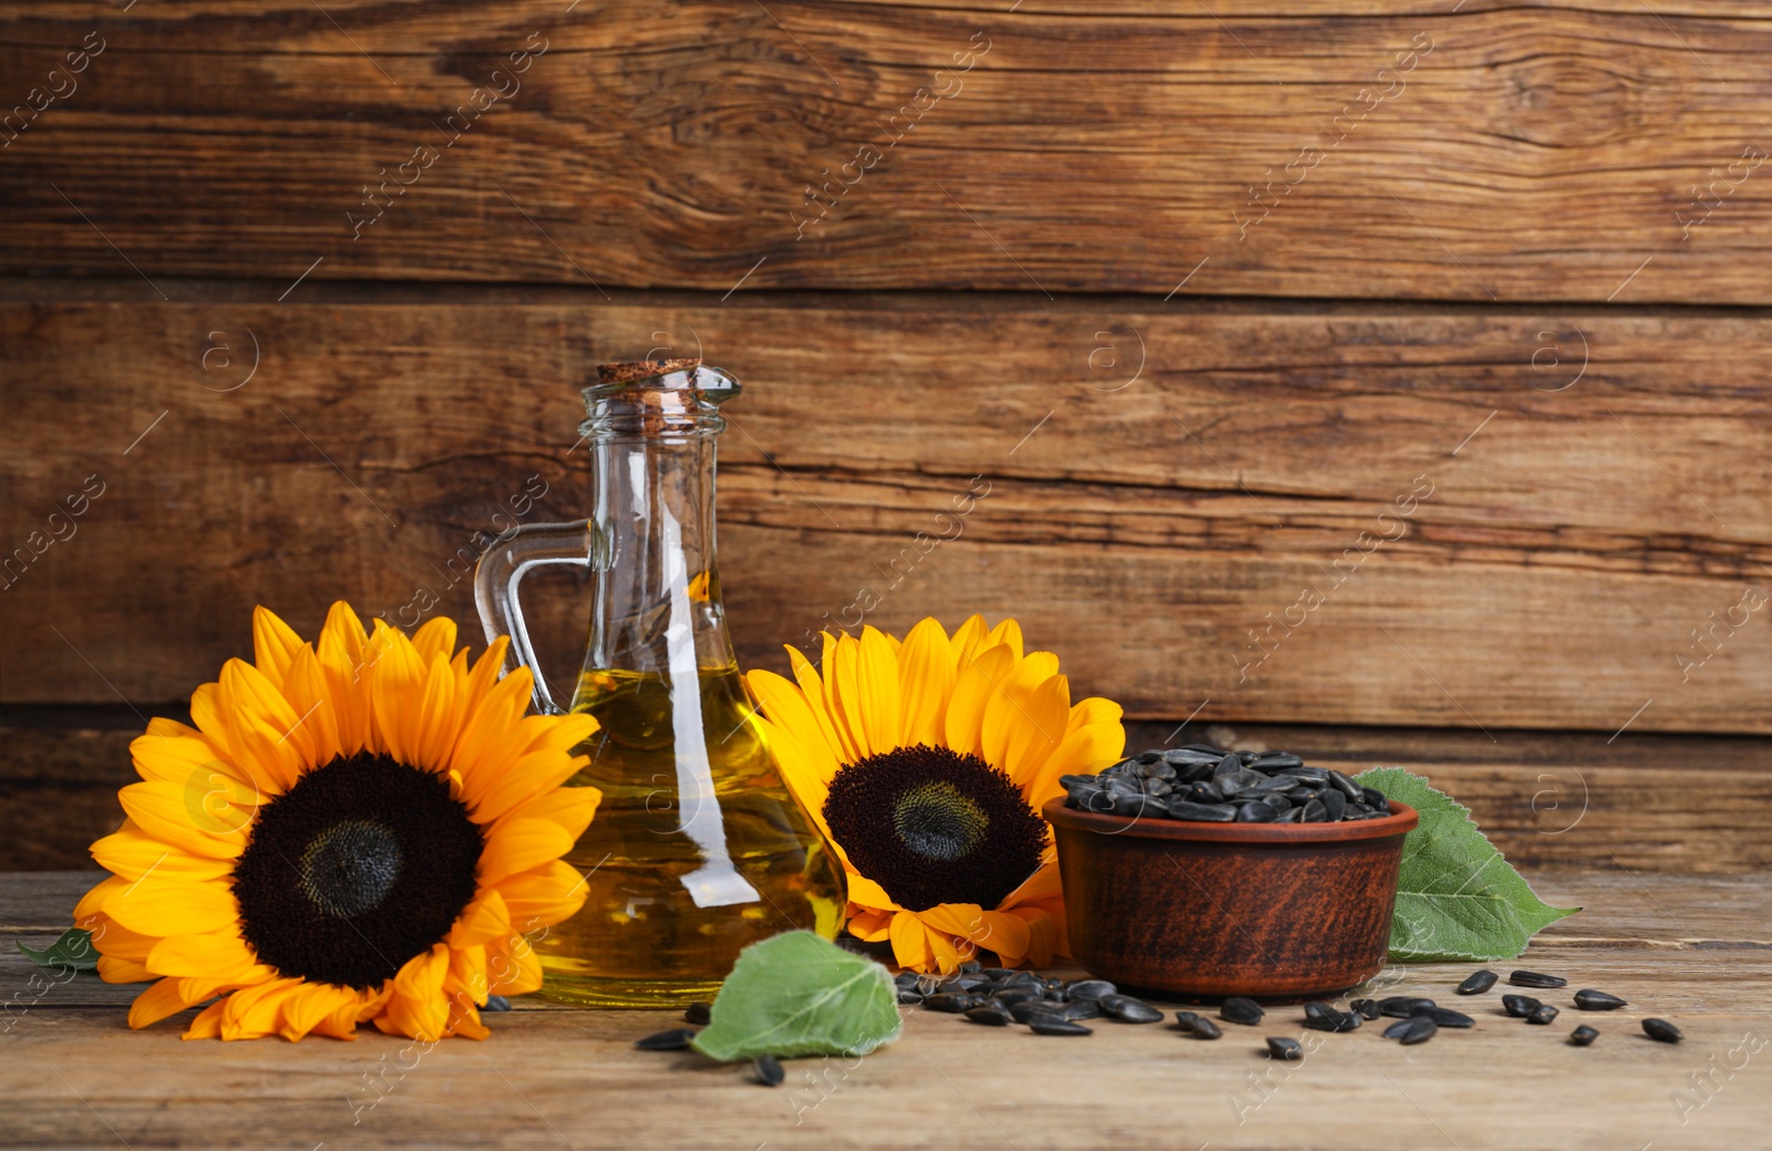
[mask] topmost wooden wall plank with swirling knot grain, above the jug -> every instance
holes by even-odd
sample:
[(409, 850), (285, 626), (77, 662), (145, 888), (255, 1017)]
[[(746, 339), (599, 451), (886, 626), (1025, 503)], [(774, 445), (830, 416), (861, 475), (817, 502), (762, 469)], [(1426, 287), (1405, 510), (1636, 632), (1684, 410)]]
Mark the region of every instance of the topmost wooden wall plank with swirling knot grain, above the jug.
[(0, 267), (1765, 303), (1767, 51), (1735, 4), (30, 5)]

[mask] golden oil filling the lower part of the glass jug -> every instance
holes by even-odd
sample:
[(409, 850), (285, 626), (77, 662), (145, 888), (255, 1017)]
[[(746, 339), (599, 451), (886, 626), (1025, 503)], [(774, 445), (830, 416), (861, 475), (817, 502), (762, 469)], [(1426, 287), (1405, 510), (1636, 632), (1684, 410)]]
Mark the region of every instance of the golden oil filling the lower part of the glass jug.
[(696, 678), (673, 691), (657, 671), (579, 676), (572, 710), (601, 730), (572, 783), (601, 788), (602, 802), (567, 855), (585, 907), (535, 942), (546, 999), (712, 1000), (748, 944), (796, 928), (836, 935), (842, 866), (789, 795), (737, 664)]

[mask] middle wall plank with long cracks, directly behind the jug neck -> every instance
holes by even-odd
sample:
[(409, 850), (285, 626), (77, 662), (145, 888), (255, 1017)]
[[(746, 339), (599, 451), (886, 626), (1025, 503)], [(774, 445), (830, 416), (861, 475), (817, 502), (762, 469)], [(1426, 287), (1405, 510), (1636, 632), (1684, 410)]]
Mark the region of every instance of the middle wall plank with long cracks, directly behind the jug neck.
[[(0, 542), (74, 529), (0, 593), (7, 703), (183, 699), (248, 652), (255, 602), (307, 634), (337, 597), (471, 620), (461, 572), (510, 501), (588, 503), (590, 365), (677, 344), (748, 381), (719, 505), (746, 664), (982, 611), (1132, 717), (1772, 730), (1751, 319), (898, 296), (0, 321)], [(533, 604), (560, 675), (581, 591)]]

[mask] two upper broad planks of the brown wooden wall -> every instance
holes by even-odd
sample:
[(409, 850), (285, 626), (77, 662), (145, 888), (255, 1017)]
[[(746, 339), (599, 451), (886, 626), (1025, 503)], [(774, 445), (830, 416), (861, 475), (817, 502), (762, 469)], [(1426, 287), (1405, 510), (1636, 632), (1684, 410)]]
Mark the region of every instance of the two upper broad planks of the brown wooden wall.
[(471, 616), (663, 347), (748, 384), (748, 664), (976, 609), (1154, 733), (1772, 733), (1768, 14), (4, 7), (0, 793), (255, 602)]

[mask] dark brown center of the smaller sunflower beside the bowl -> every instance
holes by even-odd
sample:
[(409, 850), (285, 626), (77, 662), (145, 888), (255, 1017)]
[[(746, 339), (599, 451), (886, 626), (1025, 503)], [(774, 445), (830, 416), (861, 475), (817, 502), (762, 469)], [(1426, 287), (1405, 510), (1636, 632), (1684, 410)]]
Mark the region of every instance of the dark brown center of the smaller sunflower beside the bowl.
[(996, 908), (1045, 848), (1045, 822), (1008, 776), (923, 744), (838, 770), (824, 822), (849, 862), (914, 912), (939, 903)]

